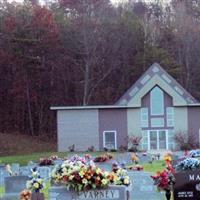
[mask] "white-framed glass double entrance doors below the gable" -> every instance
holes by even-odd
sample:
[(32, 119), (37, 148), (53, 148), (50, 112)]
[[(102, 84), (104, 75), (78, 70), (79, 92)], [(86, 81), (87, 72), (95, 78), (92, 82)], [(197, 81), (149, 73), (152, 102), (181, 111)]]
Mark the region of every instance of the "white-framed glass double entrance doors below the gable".
[(148, 132), (149, 150), (168, 149), (167, 130), (151, 130)]

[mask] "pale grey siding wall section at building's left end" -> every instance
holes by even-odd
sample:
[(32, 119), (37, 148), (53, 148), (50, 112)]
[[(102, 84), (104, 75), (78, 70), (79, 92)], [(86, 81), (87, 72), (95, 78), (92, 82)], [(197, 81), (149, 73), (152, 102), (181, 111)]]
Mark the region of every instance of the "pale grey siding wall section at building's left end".
[(85, 151), (90, 146), (99, 150), (98, 110), (58, 110), (58, 151), (68, 151), (75, 144), (75, 150)]

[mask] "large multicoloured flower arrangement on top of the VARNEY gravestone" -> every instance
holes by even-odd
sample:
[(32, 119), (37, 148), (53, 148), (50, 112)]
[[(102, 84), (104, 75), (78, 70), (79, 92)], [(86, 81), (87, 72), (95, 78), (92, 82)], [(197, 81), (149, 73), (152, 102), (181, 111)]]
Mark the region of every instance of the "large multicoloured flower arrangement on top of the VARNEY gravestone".
[(106, 188), (109, 184), (129, 185), (125, 170), (107, 172), (97, 167), (93, 161), (84, 163), (80, 160), (66, 160), (57, 165), (51, 173), (51, 181), (64, 184), (75, 191)]

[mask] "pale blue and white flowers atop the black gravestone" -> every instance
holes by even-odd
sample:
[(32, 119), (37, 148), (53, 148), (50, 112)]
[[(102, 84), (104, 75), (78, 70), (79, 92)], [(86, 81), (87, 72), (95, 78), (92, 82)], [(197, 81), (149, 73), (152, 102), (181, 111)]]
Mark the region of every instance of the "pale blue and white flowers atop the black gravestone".
[(200, 169), (200, 161), (197, 158), (186, 158), (176, 165), (176, 170)]

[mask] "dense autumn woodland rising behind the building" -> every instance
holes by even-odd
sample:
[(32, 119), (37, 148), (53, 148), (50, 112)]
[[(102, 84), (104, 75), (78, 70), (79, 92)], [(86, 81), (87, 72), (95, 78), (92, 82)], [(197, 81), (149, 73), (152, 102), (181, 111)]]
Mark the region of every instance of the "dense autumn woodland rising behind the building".
[(55, 136), (50, 106), (113, 104), (154, 62), (200, 99), (200, 0), (0, 3), (0, 132)]

